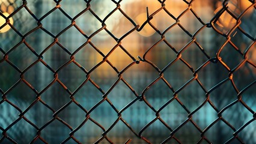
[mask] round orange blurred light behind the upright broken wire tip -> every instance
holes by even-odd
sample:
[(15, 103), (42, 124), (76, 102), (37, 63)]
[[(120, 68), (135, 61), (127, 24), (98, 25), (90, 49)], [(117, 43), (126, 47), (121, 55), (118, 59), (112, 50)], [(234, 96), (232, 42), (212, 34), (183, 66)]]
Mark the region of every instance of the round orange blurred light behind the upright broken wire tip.
[[(146, 20), (147, 20), (147, 13), (141, 13), (136, 17), (136, 22), (139, 26), (141, 26)], [(157, 22), (154, 19), (151, 19), (150, 22), (154, 25), (157, 26)], [(144, 37), (149, 37), (156, 32), (148, 23), (142, 28), (142, 30), (139, 32), (140, 35)]]

